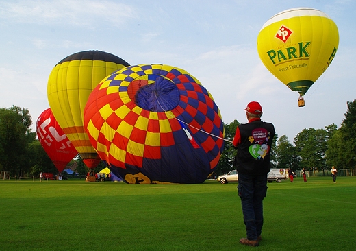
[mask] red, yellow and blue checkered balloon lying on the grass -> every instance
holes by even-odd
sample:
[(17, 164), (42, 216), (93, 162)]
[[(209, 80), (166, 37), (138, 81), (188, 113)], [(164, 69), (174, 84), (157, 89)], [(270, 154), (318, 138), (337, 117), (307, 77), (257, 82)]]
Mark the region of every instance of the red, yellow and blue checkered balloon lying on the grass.
[(127, 183), (201, 183), (223, 152), (212, 95), (183, 69), (125, 67), (105, 77), (84, 110), (100, 158)]

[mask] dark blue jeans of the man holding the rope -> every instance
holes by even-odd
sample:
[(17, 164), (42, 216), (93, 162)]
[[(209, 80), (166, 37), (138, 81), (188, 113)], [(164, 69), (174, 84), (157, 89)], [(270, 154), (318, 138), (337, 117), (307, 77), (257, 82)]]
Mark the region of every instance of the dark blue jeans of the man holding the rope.
[(267, 174), (238, 174), (238, 195), (241, 198), (242, 213), (247, 239), (256, 240), (262, 232), (264, 210), (262, 201), (267, 193)]

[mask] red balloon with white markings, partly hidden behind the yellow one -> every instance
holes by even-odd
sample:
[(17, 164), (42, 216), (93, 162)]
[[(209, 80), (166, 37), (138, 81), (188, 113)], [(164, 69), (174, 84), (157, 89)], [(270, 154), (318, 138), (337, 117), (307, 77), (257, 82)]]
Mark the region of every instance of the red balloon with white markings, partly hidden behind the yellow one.
[(51, 108), (44, 110), (36, 122), (38, 141), (61, 173), (78, 152), (58, 125)]

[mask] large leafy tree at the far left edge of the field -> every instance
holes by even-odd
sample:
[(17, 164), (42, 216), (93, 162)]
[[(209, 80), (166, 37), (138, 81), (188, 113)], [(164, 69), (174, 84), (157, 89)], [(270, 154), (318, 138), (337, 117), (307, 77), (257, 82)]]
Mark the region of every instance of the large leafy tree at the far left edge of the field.
[(26, 108), (0, 108), (0, 168), (22, 176), (29, 171), (28, 144), (36, 133), (31, 132), (31, 115)]

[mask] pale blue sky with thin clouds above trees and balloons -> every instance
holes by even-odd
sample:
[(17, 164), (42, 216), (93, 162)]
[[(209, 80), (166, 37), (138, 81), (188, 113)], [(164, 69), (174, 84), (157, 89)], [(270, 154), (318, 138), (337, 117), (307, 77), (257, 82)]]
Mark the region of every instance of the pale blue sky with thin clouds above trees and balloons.
[[(291, 91), (264, 67), (257, 35), (275, 14), (308, 7), (338, 25), (330, 67), (305, 94)], [(112, 53), (129, 64), (168, 64), (188, 71), (212, 94), (224, 123), (246, 123), (259, 101), (263, 121), (290, 142), (303, 129), (340, 128), (356, 99), (354, 0), (0, 0), (0, 107), (19, 106), (36, 120), (49, 108), (55, 64), (79, 51)]]

